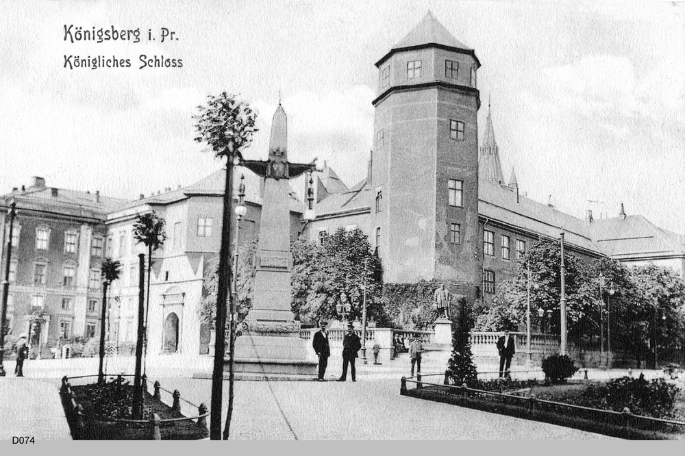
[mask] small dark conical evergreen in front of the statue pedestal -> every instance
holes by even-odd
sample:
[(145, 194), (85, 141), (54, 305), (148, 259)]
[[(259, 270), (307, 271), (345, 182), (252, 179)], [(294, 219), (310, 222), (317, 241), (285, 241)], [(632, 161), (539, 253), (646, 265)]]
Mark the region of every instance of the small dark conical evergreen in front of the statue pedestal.
[(478, 381), (478, 374), (475, 370), (475, 364), (473, 364), (473, 353), (471, 352), (473, 315), (463, 297), (458, 305), (458, 318), (455, 327), (452, 329), (452, 355), (447, 363), (445, 376), (451, 385), (466, 383), (466, 386), (473, 388)]

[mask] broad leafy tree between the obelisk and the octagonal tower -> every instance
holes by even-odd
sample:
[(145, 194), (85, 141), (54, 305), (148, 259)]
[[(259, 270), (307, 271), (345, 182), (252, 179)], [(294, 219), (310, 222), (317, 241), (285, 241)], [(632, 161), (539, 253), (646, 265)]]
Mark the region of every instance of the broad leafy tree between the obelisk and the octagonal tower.
[[(361, 318), (364, 283), (367, 318), (387, 320), (380, 305), (381, 282), (375, 275), (379, 260), (361, 229), (340, 228), (321, 246), (295, 240), (292, 259), (292, 311), (301, 320)], [(341, 303), (351, 307), (349, 315), (338, 313), (336, 305)]]

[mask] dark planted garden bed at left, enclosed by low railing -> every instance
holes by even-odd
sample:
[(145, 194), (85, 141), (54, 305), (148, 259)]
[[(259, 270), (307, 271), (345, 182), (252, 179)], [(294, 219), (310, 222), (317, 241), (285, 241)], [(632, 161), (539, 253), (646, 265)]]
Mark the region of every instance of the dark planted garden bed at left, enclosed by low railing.
[[(119, 384), (116, 380), (102, 385), (91, 383), (73, 386), (71, 391), (73, 394), (62, 394), (62, 401), (75, 440), (152, 440), (155, 414), (160, 418), (161, 440), (200, 440), (208, 435), (204, 420), (201, 423), (178, 420), (185, 418), (180, 411), (147, 391), (143, 392), (144, 421), (123, 421), (134, 420), (134, 387), (128, 383)], [(73, 403), (81, 407), (80, 416), (78, 411), (73, 411)], [(165, 421), (169, 419), (175, 420)]]

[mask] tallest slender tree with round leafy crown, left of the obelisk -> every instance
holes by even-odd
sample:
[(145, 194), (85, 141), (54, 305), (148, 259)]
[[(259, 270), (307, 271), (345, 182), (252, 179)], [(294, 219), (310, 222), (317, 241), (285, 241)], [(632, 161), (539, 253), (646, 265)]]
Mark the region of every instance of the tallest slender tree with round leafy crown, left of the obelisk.
[[(223, 390), (223, 357), (225, 353), (226, 301), (229, 299), (231, 281), (231, 199), (233, 194), (233, 160), (240, 157), (240, 151), (249, 147), (257, 118), (247, 103), (238, 101), (236, 95), (222, 92), (210, 95), (207, 104), (198, 106), (199, 114), (194, 116), (196, 142), (205, 142), (214, 155), (226, 159), (226, 185), (223, 194), (223, 218), (221, 225), (221, 249), (219, 253), (219, 280), (216, 286), (216, 342), (214, 345), (214, 369), (212, 370), (212, 405), (210, 416), (210, 438), (220, 440), (221, 435), (221, 394)], [(231, 301), (231, 315), (235, 314)], [(223, 439), (228, 438), (233, 412), (233, 347), (235, 342), (236, 321), (231, 319), (229, 360), (229, 395), (226, 427)]]

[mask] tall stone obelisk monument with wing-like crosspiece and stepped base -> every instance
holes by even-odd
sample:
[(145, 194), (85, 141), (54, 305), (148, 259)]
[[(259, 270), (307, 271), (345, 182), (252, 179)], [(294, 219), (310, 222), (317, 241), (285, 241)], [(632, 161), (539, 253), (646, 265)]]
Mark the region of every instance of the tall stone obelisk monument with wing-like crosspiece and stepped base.
[(288, 118), (278, 105), (271, 123), (269, 160), (242, 165), (264, 177), (252, 309), (236, 339), (235, 372), (315, 375), (309, 341), (299, 337), (290, 312), (290, 183), (314, 170), (314, 164), (288, 162)]

